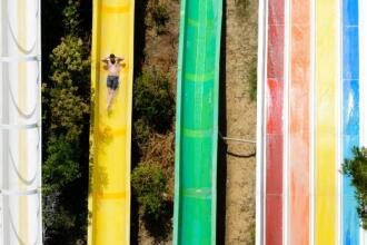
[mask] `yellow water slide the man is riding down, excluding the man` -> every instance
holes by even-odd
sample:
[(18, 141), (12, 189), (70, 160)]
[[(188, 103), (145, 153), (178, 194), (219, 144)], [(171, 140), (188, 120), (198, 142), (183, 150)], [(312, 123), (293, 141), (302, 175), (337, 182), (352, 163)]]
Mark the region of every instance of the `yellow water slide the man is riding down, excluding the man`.
[[(93, 0), (89, 245), (130, 244), (133, 13), (133, 0)], [(107, 70), (101, 59), (110, 53), (125, 61), (108, 111)]]

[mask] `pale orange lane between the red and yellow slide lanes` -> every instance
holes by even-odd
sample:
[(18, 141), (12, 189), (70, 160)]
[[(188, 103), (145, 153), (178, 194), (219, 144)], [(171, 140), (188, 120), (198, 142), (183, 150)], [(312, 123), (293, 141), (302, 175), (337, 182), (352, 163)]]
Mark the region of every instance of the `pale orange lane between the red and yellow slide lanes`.
[(309, 244), (311, 3), (291, 0), (289, 27), (289, 167), (288, 241)]

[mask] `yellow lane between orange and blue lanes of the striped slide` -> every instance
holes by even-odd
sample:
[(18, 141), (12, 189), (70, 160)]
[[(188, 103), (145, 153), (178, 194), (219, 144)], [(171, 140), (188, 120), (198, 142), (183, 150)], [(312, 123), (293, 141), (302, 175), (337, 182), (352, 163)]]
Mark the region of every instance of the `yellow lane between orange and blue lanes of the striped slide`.
[[(336, 244), (338, 118), (338, 1), (316, 3), (315, 242)], [(340, 101), (340, 100), (338, 100)]]

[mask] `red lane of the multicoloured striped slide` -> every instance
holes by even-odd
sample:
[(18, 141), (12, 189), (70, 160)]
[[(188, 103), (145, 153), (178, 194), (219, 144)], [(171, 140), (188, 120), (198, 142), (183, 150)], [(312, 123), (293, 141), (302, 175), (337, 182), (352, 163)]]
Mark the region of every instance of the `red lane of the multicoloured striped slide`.
[(266, 108), (266, 244), (282, 241), (285, 0), (269, 0)]

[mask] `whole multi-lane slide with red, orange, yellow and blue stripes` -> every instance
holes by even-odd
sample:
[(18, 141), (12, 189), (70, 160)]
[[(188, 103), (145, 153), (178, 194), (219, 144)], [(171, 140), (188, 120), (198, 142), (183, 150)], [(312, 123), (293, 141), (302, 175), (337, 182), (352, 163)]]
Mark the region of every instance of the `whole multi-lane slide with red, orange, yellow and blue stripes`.
[(367, 3), (259, 1), (256, 244), (367, 244), (350, 179), (367, 144)]

